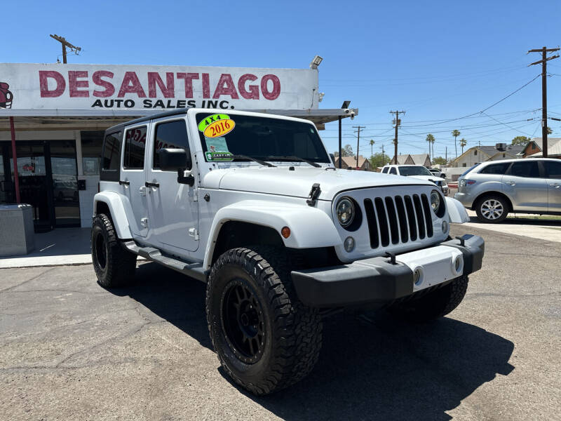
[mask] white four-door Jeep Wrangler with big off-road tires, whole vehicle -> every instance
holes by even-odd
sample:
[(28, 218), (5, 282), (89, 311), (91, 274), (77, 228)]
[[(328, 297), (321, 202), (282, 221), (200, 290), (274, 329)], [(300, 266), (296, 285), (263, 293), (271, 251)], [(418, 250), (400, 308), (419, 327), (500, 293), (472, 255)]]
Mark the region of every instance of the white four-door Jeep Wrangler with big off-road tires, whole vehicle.
[(130, 285), (137, 255), (206, 282), (212, 345), (255, 394), (312, 370), (332, 309), (436, 319), (481, 267), (483, 240), (449, 235), (464, 206), (426, 180), (334, 168), (306, 120), (177, 109), (129, 121), (107, 129), (100, 179), (100, 285)]

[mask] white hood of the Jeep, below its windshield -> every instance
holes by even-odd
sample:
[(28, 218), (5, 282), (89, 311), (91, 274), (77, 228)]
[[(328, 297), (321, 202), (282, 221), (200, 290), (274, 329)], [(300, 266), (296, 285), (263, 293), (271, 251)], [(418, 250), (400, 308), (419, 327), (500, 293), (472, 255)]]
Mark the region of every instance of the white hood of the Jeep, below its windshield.
[(294, 171), (290, 171), (288, 168), (288, 166), (276, 168), (255, 166), (210, 171), (203, 178), (202, 187), (304, 198), (309, 196), (311, 186), (319, 183), (321, 189), (319, 199), (332, 200), (342, 190), (391, 185), (432, 185), (426, 180), (370, 171), (326, 170), (325, 167), (302, 168), (302, 166), (296, 166)]

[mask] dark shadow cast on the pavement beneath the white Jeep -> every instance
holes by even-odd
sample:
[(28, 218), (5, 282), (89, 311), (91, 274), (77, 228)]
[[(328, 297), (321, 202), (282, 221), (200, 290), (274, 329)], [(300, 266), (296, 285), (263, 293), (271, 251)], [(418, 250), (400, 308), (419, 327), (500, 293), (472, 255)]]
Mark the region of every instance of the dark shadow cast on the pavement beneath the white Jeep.
[[(140, 265), (137, 281), (119, 295), (211, 347), (203, 283), (155, 263)], [(411, 326), (385, 312), (338, 314), (325, 319), (320, 360), (302, 382), (264, 397), (238, 389), (286, 420), (449, 420), (446, 410), (511, 373), (513, 349), (499, 335), (450, 318)]]

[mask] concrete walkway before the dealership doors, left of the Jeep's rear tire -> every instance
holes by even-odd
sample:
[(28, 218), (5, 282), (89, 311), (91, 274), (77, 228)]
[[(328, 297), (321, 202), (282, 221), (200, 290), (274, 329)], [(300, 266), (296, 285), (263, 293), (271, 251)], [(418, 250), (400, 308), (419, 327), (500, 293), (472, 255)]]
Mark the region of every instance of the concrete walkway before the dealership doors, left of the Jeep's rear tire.
[(90, 232), (90, 228), (57, 228), (35, 234), (35, 249), (32, 253), (0, 258), (0, 269), (91, 263)]

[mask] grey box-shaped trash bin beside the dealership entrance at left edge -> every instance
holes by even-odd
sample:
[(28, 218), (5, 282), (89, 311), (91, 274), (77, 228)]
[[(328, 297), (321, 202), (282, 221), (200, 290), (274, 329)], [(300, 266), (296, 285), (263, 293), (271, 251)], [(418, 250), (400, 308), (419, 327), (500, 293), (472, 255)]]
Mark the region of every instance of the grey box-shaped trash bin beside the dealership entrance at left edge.
[(33, 206), (0, 205), (0, 256), (26, 255), (34, 248)]

